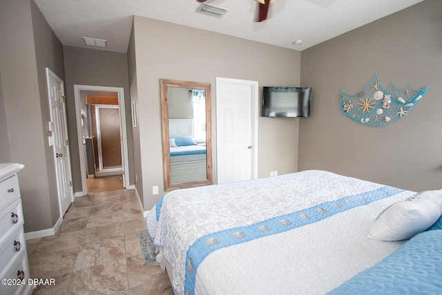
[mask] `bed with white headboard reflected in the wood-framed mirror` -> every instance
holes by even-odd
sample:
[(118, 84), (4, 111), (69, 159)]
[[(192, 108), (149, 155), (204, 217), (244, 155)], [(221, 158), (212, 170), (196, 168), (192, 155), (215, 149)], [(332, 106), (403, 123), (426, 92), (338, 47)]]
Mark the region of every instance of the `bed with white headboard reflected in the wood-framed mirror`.
[(193, 140), (192, 119), (169, 119), (171, 182), (207, 179), (206, 145)]

